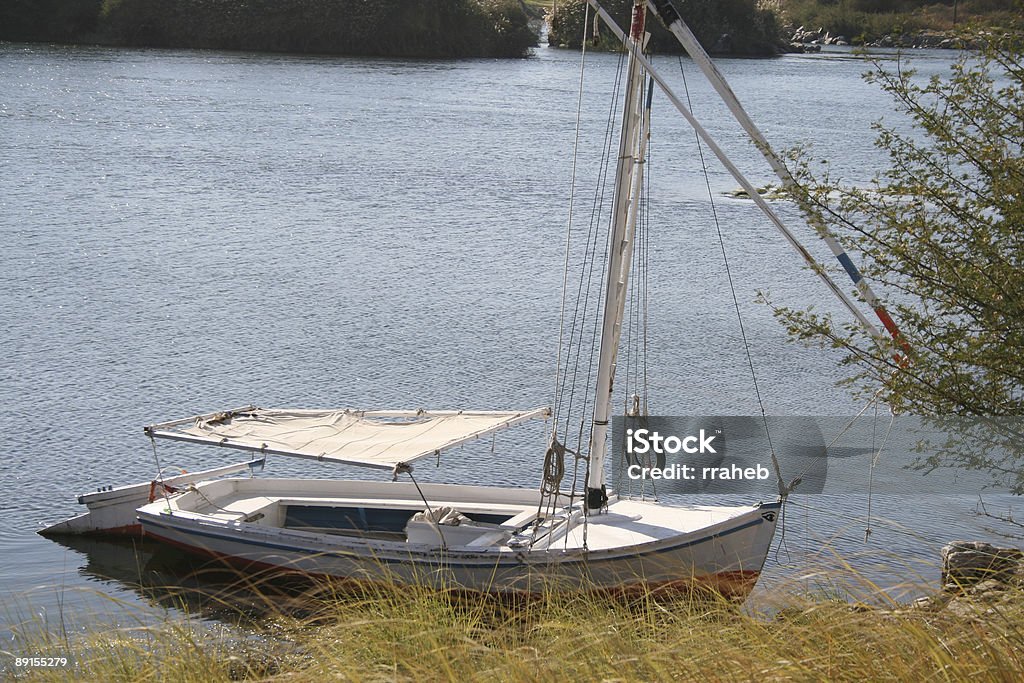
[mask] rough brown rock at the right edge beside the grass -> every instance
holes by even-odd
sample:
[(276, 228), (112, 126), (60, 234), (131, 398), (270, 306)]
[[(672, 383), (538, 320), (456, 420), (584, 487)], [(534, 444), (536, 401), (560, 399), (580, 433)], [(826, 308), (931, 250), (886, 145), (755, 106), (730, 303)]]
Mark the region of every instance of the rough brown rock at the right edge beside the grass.
[(978, 541), (954, 541), (942, 549), (942, 590), (972, 594), (1019, 583), (1024, 552)]

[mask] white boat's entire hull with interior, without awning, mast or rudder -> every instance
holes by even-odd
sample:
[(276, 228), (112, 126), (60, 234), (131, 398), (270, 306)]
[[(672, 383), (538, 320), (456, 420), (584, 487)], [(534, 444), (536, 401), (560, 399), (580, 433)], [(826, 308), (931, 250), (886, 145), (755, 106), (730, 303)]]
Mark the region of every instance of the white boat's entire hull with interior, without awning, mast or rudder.
[(295, 521), (296, 510), (323, 518), (361, 510), (400, 519), (424, 508), (412, 484), (227, 479), (199, 488), (202, 495), (174, 497), (170, 507), (164, 501), (142, 507), (138, 518), (146, 535), (237, 565), (480, 592), (539, 592), (553, 584), (616, 593), (697, 587), (743, 597), (764, 564), (779, 508), (778, 503), (674, 508), (612, 500), (606, 513), (589, 518), (586, 549), (579, 511), (549, 518), (542, 529), (550, 530), (530, 549), (515, 547), (515, 539), (534, 525), (536, 490), (423, 485), (435, 507), (507, 518), (504, 524), (454, 527), (442, 548), (436, 527), (426, 536), (409, 531), (404, 540), (391, 540), (379, 537), (402, 535), (374, 538), (288, 523)]

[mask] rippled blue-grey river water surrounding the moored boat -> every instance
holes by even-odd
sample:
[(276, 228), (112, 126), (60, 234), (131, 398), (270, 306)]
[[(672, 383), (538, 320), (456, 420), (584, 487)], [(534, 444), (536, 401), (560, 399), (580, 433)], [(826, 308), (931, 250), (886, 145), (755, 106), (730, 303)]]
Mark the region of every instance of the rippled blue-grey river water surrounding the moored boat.
[[(914, 63), (927, 75), (951, 58), (920, 52)], [(588, 62), (595, 92), (581, 176), (596, 163), (615, 65), (612, 55)], [(676, 60), (660, 66), (680, 84)], [(697, 116), (757, 183), (770, 181), (685, 68)], [(892, 117), (861, 82), (865, 68), (847, 53), (721, 62), (776, 146), (810, 144), (854, 180), (880, 165), (870, 123)], [(144, 424), (250, 402), (550, 403), (579, 77), (577, 54), (548, 49), (518, 61), (433, 62), (0, 45), (7, 621), (62, 608), (130, 622), (161, 608), (128, 586), (140, 567), (155, 571), (146, 560), (35, 533), (77, 513), (79, 493), (148, 480)], [(692, 134), (664, 99), (654, 117), (664, 225), (652, 404), (749, 414), (756, 403)], [(711, 182), (716, 193), (736, 186), (717, 167)], [(754, 303), (762, 289), (829, 309), (824, 289), (752, 204), (716, 204), (768, 411), (856, 412), (834, 388), (836, 358), (785, 343)], [(543, 435), (527, 431), (525, 441), (459, 452), (418, 473), (534, 485)], [(160, 447), (165, 464), (185, 468), (229, 458)], [(353, 474), (280, 459), (268, 470)], [(865, 503), (795, 502), (766, 583), (834, 555), (894, 590), (935, 582), (943, 543), (994, 533), (968, 497), (882, 498), (864, 544)]]

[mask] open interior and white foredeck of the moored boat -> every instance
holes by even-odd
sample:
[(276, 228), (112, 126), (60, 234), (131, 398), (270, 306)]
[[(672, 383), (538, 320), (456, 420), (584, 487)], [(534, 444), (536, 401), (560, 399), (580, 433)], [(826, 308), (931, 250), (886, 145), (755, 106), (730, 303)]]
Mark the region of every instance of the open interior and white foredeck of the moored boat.
[[(361, 485), (360, 485), (361, 484)], [(754, 507), (669, 507), (613, 499), (606, 512), (584, 516), (575, 509), (549, 517), (534, 529), (536, 490), (424, 484), (430, 508), (452, 507), (496, 531), (469, 543), (501, 546), (511, 536), (536, 532), (543, 547), (591, 550), (637, 546), (678, 539), (680, 535), (714, 532)], [(220, 522), (245, 522), (317, 535), (401, 542), (410, 517), (427, 508), (414, 486), (403, 483), (327, 480), (219, 480), (201, 484), (172, 499), (177, 512)], [(293, 512), (295, 511), (295, 512)], [(369, 519), (369, 521), (368, 521)], [(537, 547), (535, 545), (535, 547)]]

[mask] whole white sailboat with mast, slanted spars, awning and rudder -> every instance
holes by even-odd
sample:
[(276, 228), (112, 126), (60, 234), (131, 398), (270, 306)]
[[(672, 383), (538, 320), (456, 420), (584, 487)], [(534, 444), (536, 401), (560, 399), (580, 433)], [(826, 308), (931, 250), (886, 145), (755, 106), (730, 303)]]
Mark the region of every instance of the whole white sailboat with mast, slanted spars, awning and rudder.
[[(684, 46), (709, 78), (720, 79), (671, 3), (649, 4), (681, 40), (688, 37), (691, 42), (684, 41)], [(249, 405), (151, 425), (145, 433), (154, 443), (172, 439), (247, 451), (253, 461), (90, 494), (80, 499), (89, 512), (43, 532), (141, 530), (170, 546), (246, 568), (439, 589), (529, 593), (555, 586), (627, 594), (688, 594), (697, 589), (745, 597), (763, 568), (787, 494), (780, 474), (775, 500), (730, 506), (635, 500), (605, 481), (605, 464), (612, 455), (612, 386), (641, 206), (646, 87), (656, 83), (666, 92), (798, 252), (810, 256), (644, 57), (647, 4), (637, 0), (629, 33), (618, 29), (596, 0), (590, 5), (623, 40), (629, 61), (606, 237), (592, 412), (575, 450), (562, 442), (567, 439), (557, 428), (558, 416), (547, 408), (387, 411)], [(730, 100), (727, 103), (733, 109)], [(823, 268), (815, 272), (827, 278)], [(841, 299), (846, 296), (828, 283)], [(844, 303), (856, 311), (848, 298)], [(859, 311), (856, 314), (865, 322)], [(634, 407), (640, 411), (640, 401), (635, 400)], [(536, 420), (555, 423), (549, 429), (546, 453), (539, 454), (544, 455), (539, 488), (415, 479), (413, 464), (420, 459), (439, 458), (450, 449)], [(268, 455), (383, 470), (391, 473), (392, 480), (229, 476), (254, 469)], [(563, 485), (566, 459), (585, 464), (581, 490), (575, 482), (568, 490)]]

